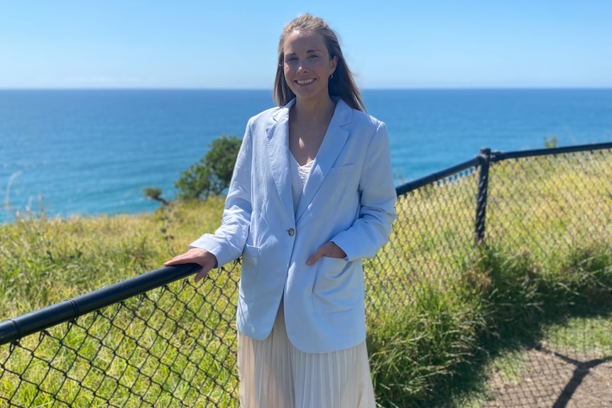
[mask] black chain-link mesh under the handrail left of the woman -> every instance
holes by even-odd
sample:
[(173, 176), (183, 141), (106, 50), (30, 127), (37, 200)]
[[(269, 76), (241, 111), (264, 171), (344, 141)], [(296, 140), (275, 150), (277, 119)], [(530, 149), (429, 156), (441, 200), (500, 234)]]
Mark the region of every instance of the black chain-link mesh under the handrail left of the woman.
[(179, 280), (0, 350), (0, 407), (233, 407), (236, 270)]

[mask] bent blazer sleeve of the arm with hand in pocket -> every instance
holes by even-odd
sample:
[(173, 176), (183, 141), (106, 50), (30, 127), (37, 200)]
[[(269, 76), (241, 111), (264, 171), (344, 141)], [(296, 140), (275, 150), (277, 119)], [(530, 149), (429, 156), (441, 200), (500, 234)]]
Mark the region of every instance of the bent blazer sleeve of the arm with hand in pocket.
[(344, 250), (344, 259), (349, 261), (376, 255), (387, 243), (391, 223), (397, 217), (389, 138), (383, 122), (378, 124), (368, 144), (359, 192), (359, 217), (350, 228), (331, 240)]

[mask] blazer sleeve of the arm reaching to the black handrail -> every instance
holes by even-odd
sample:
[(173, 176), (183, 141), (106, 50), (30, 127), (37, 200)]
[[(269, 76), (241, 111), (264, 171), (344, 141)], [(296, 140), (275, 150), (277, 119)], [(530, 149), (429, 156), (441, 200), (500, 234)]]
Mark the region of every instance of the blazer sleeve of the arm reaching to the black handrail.
[(251, 224), (251, 166), (253, 138), (251, 120), (248, 121), (231, 177), (222, 224), (217, 231), (204, 233), (189, 248), (202, 248), (217, 257), (218, 266), (238, 258), (243, 250)]

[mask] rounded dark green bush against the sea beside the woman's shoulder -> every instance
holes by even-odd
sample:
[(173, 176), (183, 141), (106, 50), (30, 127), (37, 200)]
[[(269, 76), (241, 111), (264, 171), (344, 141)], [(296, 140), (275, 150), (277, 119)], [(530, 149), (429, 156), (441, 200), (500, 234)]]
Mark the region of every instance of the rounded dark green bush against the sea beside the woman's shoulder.
[(174, 182), (177, 198), (206, 199), (211, 194), (222, 194), (231, 182), (241, 143), (236, 136), (226, 137), (225, 134), (213, 140), (208, 153), (181, 172), (180, 179)]

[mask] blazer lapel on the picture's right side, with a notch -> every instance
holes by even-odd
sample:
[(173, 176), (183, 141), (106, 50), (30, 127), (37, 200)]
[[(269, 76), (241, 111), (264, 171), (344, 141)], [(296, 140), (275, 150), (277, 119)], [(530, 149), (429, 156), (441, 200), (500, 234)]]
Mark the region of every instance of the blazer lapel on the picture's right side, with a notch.
[(327, 132), (321, 143), (321, 147), (315, 157), (315, 162), (312, 163), (310, 175), (304, 186), (304, 194), (300, 199), (300, 204), (297, 206), (295, 213), (295, 221), (300, 219), (300, 216), (307, 209), (308, 204), (315, 198), (315, 194), (319, 191), (319, 187), (323, 184), (329, 169), (332, 168), (334, 162), (338, 158), (349, 138), (349, 131), (344, 130), (341, 126), (351, 123), (352, 109), (344, 101), (339, 99), (336, 104), (336, 110), (332, 121), (327, 126)]

